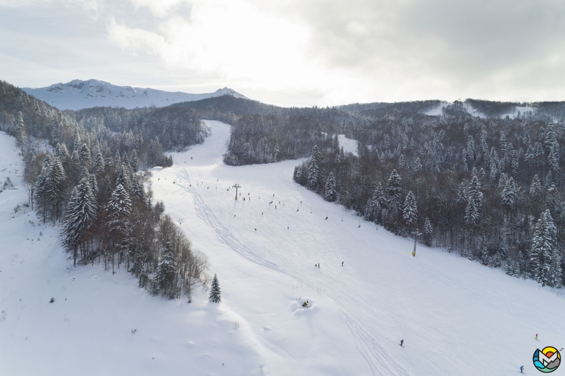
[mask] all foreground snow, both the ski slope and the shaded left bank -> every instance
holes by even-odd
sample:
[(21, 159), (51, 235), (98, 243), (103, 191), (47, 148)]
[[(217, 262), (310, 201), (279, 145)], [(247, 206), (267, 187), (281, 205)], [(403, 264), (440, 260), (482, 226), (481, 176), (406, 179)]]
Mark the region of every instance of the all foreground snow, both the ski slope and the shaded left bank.
[[(536, 348), (563, 347), (562, 290), (421, 244), (412, 257), (410, 239), (294, 183), (300, 161), (224, 165), (229, 125), (207, 125), (205, 143), (151, 183), (210, 258), (221, 303), (201, 289), (191, 304), (151, 297), (123, 269), (73, 268), (58, 228), (13, 213), (27, 202), (19, 185), (0, 193), (3, 374), (514, 375), (534, 371)], [(0, 134), (0, 174), (21, 163)]]

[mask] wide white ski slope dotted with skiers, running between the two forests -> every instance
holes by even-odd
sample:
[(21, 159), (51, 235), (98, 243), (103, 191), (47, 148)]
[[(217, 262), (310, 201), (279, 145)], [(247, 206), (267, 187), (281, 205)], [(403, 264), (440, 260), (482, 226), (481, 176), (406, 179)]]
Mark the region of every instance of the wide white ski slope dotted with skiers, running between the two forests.
[(295, 184), (299, 161), (224, 165), (229, 126), (207, 124), (205, 143), (155, 169), (155, 199), (210, 257), (264, 373), (513, 375), (564, 347), (562, 290), (420, 244), (412, 257), (409, 239)]

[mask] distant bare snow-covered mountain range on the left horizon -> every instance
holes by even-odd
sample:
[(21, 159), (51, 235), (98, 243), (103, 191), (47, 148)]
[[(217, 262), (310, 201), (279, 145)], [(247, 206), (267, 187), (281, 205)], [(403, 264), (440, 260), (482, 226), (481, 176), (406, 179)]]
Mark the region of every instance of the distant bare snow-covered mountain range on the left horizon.
[(249, 99), (229, 88), (218, 89), (214, 93), (189, 94), (182, 93), (182, 91), (118, 86), (99, 80), (72, 80), (66, 84), (54, 84), (46, 88), (23, 88), (23, 90), (59, 110), (80, 110), (96, 106), (136, 108), (155, 105), (164, 107), (173, 103), (221, 97), (222, 95)]

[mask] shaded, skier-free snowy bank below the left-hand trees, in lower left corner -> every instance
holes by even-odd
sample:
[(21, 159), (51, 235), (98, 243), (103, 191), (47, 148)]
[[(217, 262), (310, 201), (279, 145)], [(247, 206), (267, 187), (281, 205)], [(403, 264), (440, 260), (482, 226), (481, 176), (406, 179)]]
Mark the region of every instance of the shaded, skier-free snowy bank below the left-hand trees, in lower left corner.
[(123, 269), (73, 268), (58, 227), (14, 213), (27, 203), (22, 167), (15, 139), (0, 133), (0, 183), (9, 176), (16, 188), (0, 193), (1, 375), (259, 374), (258, 340), (206, 291), (191, 304), (163, 300)]

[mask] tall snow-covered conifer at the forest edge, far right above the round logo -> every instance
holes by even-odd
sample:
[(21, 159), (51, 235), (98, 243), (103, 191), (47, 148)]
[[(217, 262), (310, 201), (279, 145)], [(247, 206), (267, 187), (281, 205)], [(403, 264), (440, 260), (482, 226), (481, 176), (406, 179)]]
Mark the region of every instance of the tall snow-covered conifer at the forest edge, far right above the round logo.
[(557, 246), (557, 229), (549, 209), (542, 213), (534, 227), (530, 261), (533, 279), (539, 283), (550, 282), (549, 270), (552, 265), (554, 247)]

